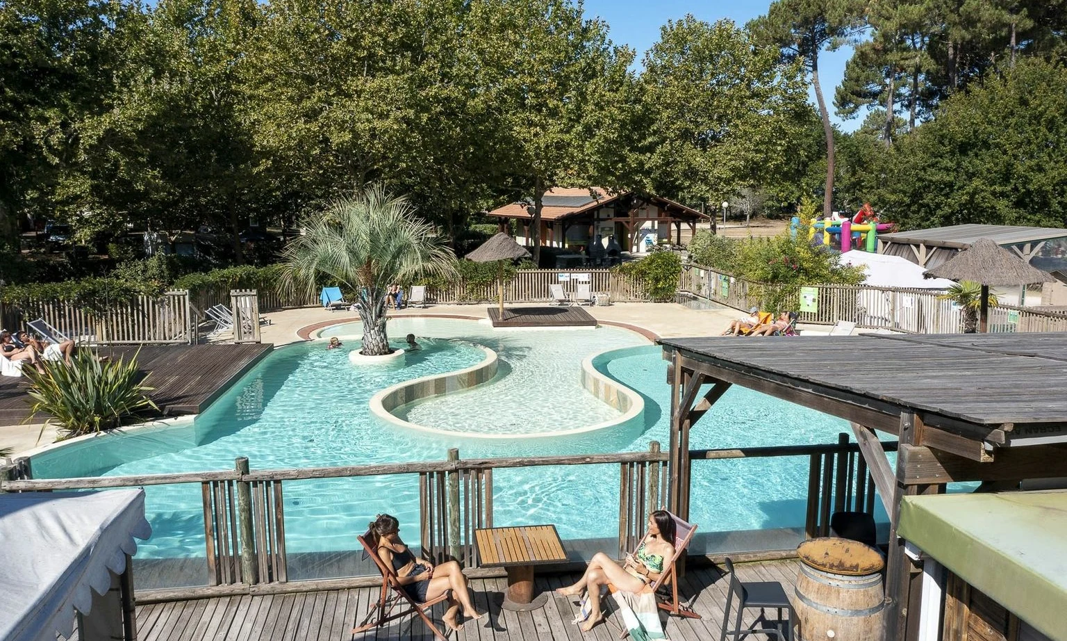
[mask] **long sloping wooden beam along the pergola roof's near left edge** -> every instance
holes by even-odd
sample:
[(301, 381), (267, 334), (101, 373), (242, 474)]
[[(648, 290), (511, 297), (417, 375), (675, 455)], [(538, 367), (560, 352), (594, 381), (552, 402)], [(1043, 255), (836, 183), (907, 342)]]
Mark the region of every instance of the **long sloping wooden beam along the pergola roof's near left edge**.
[[(676, 350), (674, 350), (678, 354)], [(875, 429), (881, 429), (890, 434), (896, 434), (899, 422), (898, 408), (888, 403), (871, 403), (864, 401), (860, 403), (849, 403), (840, 397), (837, 392), (826, 390), (821, 393), (816, 386), (800, 387), (799, 384), (790, 384), (776, 380), (763, 375), (738, 372), (727, 368), (721, 368), (698, 359), (689, 358), (679, 354), (679, 362), (691, 371), (703, 372), (711, 378), (731, 382), (742, 387), (763, 392), (784, 401), (796, 403), (805, 407), (817, 409), (835, 417), (841, 417), (847, 421), (855, 421), (861, 425), (866, 425)], [(833, 395), (831, 395), (831, 393)]]

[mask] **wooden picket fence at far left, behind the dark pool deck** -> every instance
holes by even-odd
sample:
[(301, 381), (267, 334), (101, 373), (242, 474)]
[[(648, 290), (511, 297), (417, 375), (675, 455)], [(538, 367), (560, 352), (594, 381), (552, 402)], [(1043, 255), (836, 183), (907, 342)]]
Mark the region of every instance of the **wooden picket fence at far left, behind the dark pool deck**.
[(105, 310), (91, 310), (77, 302), (50, 299), (0, 304), (3, 326), (17, 329), (37, 318), (80, 343), (194, 343), (194, 314), (189, 292), (162, 296), (137, 296), (116, 300)]

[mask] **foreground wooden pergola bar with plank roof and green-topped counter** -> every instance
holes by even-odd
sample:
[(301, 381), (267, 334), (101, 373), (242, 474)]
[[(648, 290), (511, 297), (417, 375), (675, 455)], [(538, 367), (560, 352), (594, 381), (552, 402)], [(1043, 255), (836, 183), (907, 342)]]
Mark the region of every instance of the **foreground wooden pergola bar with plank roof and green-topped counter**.
[(817, 409), (850, 422), (890, 516), (886, 641), (1067, 639), (1067, 493), (1022, 491), (1067, 476), (1067, 333), (660, 342), (670, 510), (688, 515), (689, 433), (731, 386)]

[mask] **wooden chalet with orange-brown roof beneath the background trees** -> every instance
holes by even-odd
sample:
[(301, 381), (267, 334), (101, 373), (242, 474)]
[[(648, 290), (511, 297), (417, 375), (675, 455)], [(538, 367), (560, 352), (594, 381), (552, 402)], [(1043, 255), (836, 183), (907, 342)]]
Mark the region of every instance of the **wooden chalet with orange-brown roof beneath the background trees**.
[[(541, 245), (577, 248), (588, 246), (598, 236), (605, 245), (614, 236), (622, 251), (644, 251), (660, 239), (682, 243), (682, 225), (696, 233), (697, 223), (708, 218), (681, 203), (654, 194), (622, 191), (610, 194), (603, 187), (548, 190), (541, 206)], [(508, 219), (517, 221), (515, 239), (531, 243), (532, 207), (528, 203), (509, 203), (489, 213), (498, 218), (506, 231)], [(673, 231), (673, 234), (672, 234)]]

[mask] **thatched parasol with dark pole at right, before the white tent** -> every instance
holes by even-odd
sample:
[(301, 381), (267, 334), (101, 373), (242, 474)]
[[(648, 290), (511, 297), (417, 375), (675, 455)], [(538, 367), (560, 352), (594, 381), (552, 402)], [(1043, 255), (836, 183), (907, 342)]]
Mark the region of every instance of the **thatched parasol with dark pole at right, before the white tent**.
[(982, 307), (978, 312), (981, 332), (989, 329), (989, 285), (1031, 285), (1055, 280), (1051, 273), (1031, 267), (989, 238), (978, 238), (952, 260), (927, 269), (925, 276), (954, 281), (969, 280), (982, 285)]

